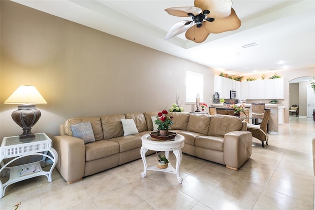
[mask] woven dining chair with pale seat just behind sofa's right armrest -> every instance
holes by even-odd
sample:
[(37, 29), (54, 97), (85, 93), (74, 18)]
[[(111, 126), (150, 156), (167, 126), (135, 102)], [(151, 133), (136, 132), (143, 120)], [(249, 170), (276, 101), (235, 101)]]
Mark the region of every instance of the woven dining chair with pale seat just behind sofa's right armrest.
[(265, 147), (264, 141), (268, 145), (267, 124), (270, 118), (270, 109), (264, 110), (264, 117), (260, 125), (247, 124), (247, 131), (252, 132), (252, 137), (261, 140), (262, 147)]

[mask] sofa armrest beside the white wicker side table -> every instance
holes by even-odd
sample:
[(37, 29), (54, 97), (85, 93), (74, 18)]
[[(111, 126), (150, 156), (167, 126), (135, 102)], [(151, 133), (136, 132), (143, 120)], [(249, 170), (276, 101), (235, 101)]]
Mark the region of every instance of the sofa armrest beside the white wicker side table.
[(82, 139), (72, 136), (56, 136), (53, 148), (59, 159), (56, 168), (68, 184), (82, 179), (85, 170), (85, 146)]

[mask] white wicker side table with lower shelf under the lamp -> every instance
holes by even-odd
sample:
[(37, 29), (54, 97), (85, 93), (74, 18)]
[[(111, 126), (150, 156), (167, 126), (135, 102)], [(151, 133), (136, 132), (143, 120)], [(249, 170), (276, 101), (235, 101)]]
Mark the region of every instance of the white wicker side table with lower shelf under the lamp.
[[(47, 155), (47, 152), (50, 152), (51, 156)], [(44, 152), (44, 153), (41, 153)], [(40, 161), (19, 165), (19, 166), (12, 166), (8, 167), (9, 164), (12, 162), (26, 157), (30, 155), (41, 155), (43, 158)], [(16, 157), (9, 161), (7, 164), (4, 165), (3, 159)], [(45, 159), (49, 158), (53, 161), (53, 165), (50, 168), (50, 171), (43, 171), (41, 168), (41, 164), (45, 166)], [(58, 154), (54, 148), (52, 148), (52, 141), (45, 133), (35, 134), (35, 139), (32, 140), (21, 140), (19, 136), (14, 137), (4, 137), (0, 146), (0, 164), (1, 169), (0, 173), (5, 176), (7, 171), (10, 171), (9, 179), (2, 184), (0, 181), (0, 198), (4, 196), (5, 189), (10, 184), (13, 184), (18, 181), (22, 181), (28, 178), (32, 178), (35, 176), (45, 175), (48, 178), (48, 181), (52, 181), (51, 174), (53, 169), (55, 168), (58, 161)], [(26, 175), (21, 175), (21, 169), (26, 167), (36, 166), (36, 172), (30, 172)], [(37, 168), (38, 167), (38, 168)], [(39, 169), (39, 170), (38, 170)]]

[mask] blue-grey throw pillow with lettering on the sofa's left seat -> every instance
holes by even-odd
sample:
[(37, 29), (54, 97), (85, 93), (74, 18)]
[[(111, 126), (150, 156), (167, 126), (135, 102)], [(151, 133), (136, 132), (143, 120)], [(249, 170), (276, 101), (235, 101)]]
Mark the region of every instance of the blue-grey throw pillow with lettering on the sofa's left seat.
[(82, 139), (85, 144), (95, 141), (92, 125), (90, 122), (72, 125), (71, 131), (74, 137)]

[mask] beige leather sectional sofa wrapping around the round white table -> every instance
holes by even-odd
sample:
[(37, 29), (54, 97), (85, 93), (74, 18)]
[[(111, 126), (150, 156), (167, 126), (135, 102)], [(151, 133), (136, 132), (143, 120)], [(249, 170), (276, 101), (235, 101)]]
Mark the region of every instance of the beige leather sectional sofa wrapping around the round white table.
[[(152, 116), (158, 112), (132, 112), (102, 117), (71, 118), (60, 127), (60, 136), (53, 139), (59, 160), (56, 168), (72, 183), (84, 176), (141, 158), (141, 136), (153, 131)], [(184, 153), (226, 165), (237, 170), (252, 154), (252, 133), (246, 123), (228, 115), (171, 112), (172, 132), (185, 137)], [(133, 119), (137, 134), (124, 136), (121, 120)], [(91, 122), (95, 141), (85, 144), (73, 137), (71, 126)], [(155, 153), (148, 151), (146, 155)]]

